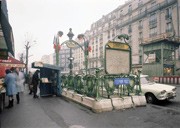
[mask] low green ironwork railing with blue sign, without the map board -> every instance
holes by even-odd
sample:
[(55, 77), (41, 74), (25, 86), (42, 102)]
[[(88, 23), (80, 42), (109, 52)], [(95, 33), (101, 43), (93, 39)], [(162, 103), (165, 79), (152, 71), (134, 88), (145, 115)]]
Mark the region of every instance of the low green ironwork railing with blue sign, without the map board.
[[(62, 88), (74, 90), (78, 94), (93, 98), (124, 97), (141, 93), (138, 76), (123, 74), (100, 76), (100, 71), (96, 68), (95, 75), (63, 75), (61, 76)], [(117, 83), (116, 79), (120, 83)], [(126, 81), (128, 82), (126, 83)]]

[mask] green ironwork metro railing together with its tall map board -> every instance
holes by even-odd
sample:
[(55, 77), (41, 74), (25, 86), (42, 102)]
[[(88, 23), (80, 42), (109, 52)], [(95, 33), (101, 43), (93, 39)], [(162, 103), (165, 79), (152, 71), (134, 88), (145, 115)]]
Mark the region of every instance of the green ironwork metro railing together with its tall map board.
[[(105, 62), (107, 63), (105, 69), (87, 69), (86, 67), (85, 75), (63, 75), (61, 78), (62, 88), (71, 89), (96, 99), (140, 95), (140, 73), (138, 75), (131, 74), (131, 47), (126, 42), (129, 36), (122, 34), (116, 38), (123, 40), (124, 43), (109, 41), (105, 45)], [(94, 70), (95, 73), (87, 74), (87, 71), (90, 70)], [(100, 75), (102, 71), (104, 74)]]

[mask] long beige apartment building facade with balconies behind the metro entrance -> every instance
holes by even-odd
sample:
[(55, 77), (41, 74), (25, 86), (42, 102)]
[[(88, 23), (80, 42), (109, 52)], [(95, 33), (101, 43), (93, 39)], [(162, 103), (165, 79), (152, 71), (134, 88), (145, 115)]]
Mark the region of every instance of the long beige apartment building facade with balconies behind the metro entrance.
[[(180, 0), (130, 0), (102, 16), (91, 24), (91, 29), (85, 33), (92, 48), (88, 57), (88, 68), (104, 67), (104, 46), (120, 34), (128, 34), (130, 37), (128, 43), (132, 48), (133, 65), (150, 63), (154, 59), (153, 56), (157, 57), (154, 54), (144, 54), (142, 44), (157, 42), (159, 38), (161, 40), (172, 38), (169, 43), (175, 45), (168, 47), (175, 49), (169, 54), (174, 54), (173, 57), (178, 60), (180, 58), (179, 10)], [(156, 45), (148, 47), (153, 52), (154, 49), (151, 47)], [(83, 51), (76, 48), (73, 53), (75, 58), (73, 70), (84, 69)], [(148, 61), (145, 62), (145, 59)], [(178, 63), (177, 61), (174, 69), (180, 68)]]

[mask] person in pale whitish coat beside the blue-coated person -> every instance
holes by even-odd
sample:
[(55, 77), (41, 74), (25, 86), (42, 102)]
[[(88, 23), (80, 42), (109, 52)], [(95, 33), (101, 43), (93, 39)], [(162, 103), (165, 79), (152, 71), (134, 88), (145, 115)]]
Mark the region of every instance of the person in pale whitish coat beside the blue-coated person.
[(16, 86), (17, 86), (17, 94), (16, 101), (17, 104), (20, 103), (20, 93), (24, 92), (24, 84), (25, 84), (25, 75), (19, 68), (15, 68), (14, 72), (16, 73)]

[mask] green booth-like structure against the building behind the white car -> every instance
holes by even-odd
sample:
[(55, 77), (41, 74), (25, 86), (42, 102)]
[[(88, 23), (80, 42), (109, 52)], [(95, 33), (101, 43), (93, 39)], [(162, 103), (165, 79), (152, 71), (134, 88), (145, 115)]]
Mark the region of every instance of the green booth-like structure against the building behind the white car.
[[(143, 46), (143, 63), (142, 73), (149, 76), (165, 76), (165, 67), (169, 65), (175, 70), (175, 50), (179, 47), (179, 44), (170, 40), (160, 40), (157, 42), (151, 42), (148, 44), (142, 44)], [(155, 54), (154, 62), (146, 62), (150, 54)], [(145, 58), (146, 56), (146, 58)], [(172, 72), (172, 75), (174, 72)]]

